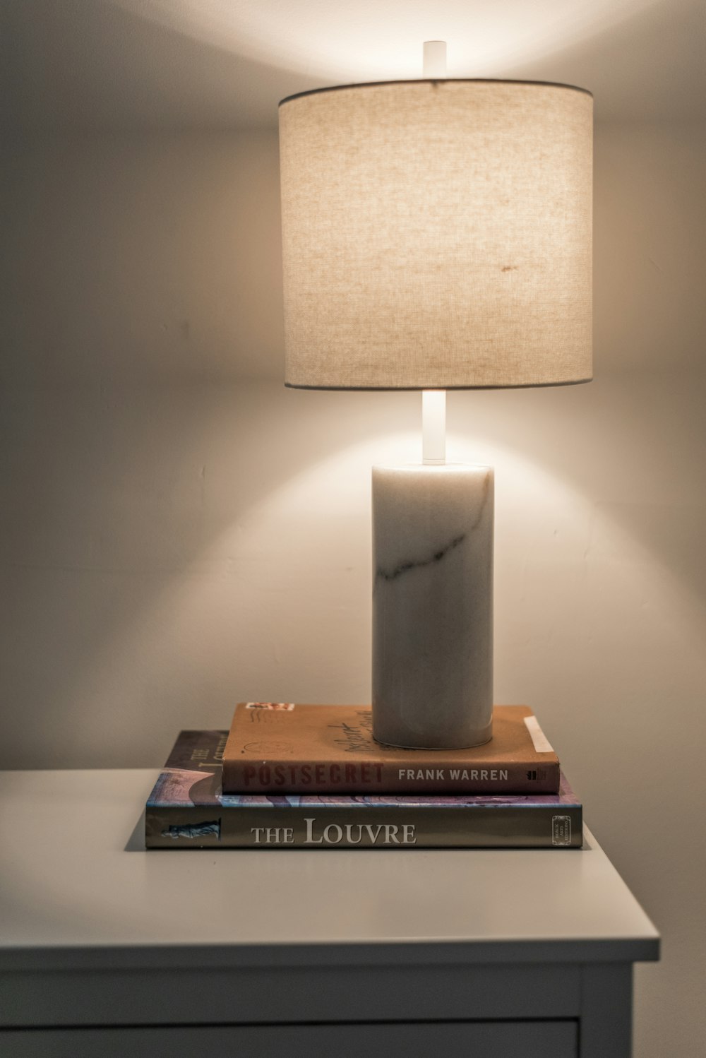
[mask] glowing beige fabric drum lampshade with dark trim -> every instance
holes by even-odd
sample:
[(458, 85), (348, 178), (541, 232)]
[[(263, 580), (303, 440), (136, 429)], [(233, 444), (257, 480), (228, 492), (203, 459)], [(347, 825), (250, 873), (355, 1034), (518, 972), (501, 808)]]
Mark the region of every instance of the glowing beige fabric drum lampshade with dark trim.
[(584, 382), (593, 98), (414, 80), (280, 105), (285, 381)]

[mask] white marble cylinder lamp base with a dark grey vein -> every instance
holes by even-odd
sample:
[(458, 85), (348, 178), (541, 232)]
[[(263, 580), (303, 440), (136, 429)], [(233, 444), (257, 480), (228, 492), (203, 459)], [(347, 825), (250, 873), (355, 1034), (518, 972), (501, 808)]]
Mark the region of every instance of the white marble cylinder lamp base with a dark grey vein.
[(494, 474), (373, 467), (373, 735), (419, 749), (493, 729)]

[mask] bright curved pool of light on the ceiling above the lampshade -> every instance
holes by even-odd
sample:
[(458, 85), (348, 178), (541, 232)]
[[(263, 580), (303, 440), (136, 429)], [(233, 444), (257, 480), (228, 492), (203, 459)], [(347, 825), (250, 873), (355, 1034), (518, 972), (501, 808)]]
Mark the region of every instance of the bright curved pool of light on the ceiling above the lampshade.
[(450, 42), (449, 76), (502, 76), (595, 36), (657, 0), (112, 0), (238, 55), (336, 81), (419, 77), (422, 42)]

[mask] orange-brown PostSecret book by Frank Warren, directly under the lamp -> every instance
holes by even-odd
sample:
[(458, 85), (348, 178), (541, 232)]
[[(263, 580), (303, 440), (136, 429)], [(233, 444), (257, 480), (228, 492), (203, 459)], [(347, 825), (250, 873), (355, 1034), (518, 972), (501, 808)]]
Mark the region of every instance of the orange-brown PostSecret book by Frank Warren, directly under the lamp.
[(226, 794), (556, 794), (559, 760), (527, 706), (496, 706), (472, 749), (400, 749), (370, 706), (240, 703), (223, 751)]

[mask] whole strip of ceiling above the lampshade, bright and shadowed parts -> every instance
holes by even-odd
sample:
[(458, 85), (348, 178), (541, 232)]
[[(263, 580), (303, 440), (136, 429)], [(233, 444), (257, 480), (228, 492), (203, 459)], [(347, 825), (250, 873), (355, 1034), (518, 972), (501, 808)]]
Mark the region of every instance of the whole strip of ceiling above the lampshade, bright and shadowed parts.
[(294, 92), (448, 73), (576, 84), (598, 121), (706, 118), (704, 0), (3, 0), (0, 123), (274, 127)]

